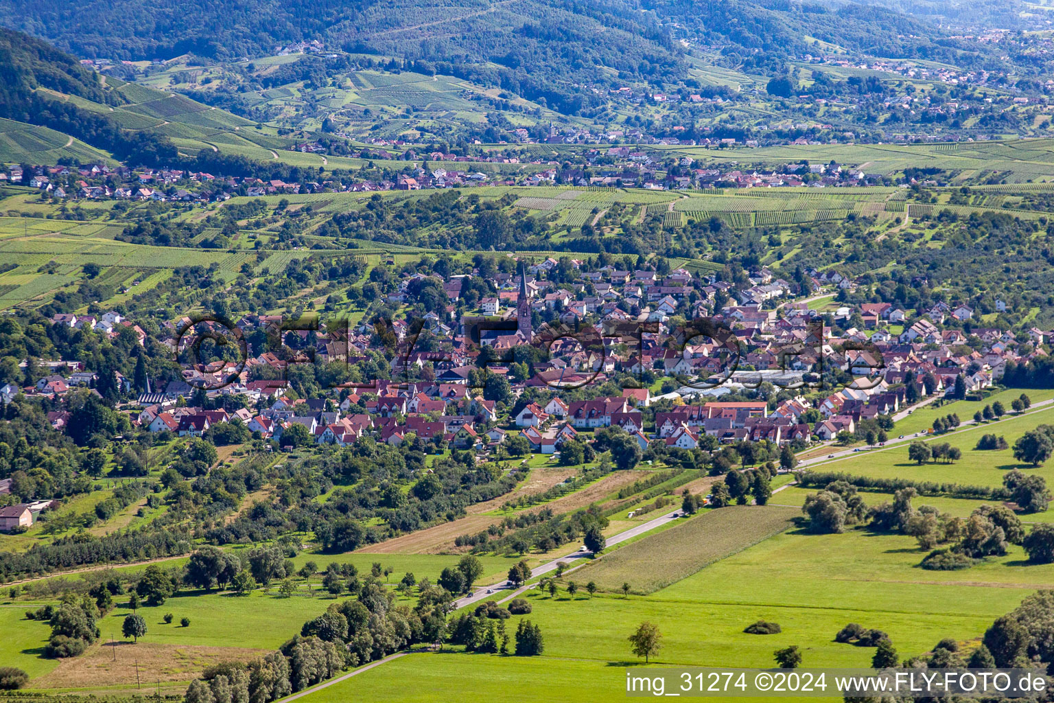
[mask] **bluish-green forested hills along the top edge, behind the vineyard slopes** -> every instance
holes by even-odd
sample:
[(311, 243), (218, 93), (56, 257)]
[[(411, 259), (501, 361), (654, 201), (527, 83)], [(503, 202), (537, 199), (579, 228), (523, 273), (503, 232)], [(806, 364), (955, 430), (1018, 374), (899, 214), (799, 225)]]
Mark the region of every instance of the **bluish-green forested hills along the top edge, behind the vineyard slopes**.
[(233, 0), (189, 7), (149, 0), (136, 3), (135, 12), (114, 9), (114, 3), (102, 0), (13, 0), (0, 7), (0, 24), (43, 36), (79, 56), (113, 61), (192, 54), (231, 62), (317, 40), (324, 53), (396, 57), (415, 62), (422, 73), (501, 87), (565, 114), (603, 102), (602, 95), (583, 85), (636, 81), (658, 86), (685, 80), (687, 53), (699, 44), (716, 48), (727, 63), (767, 75), (815, 52), (817, 41), (855, 55), (958, 65), (988, 59), (929, 22), (891, 9), (785, 0), (472, 0), (456, 5), (264, 0), (251, 11)]

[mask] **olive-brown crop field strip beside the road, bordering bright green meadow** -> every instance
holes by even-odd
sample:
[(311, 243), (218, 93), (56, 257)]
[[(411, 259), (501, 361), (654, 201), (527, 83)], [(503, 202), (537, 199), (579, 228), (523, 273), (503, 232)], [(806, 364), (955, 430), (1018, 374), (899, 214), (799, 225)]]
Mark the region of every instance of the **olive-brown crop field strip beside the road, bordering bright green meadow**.
[[(577, 578), (594, 581), (603, 591), (620, 591), (623, 583), (629, 583), (635, 593), (651, 593), (789, 528), (799, 514), (778, 506), (713, 510), (622, 547)], [(650, 565), (646, 574), (640, 570), (644, 561)]]

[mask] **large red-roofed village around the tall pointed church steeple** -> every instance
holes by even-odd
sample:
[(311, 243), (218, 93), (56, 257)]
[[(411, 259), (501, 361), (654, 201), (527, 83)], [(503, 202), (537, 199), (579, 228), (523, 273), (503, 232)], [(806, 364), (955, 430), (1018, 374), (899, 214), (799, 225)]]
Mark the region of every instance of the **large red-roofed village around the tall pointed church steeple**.
[[(237, 421), (275, 449), (295, 446), (282, 437), (300, 425), (307, 430), (295, 433), (300, 442), (344, 447), (369, 435), (395, 446), (413, 441), (435, 451), (472, 450), (480, 461), (512, 448), (559, 453), (564, 443), (588, 443), (610, 427), (628, 432), (642, 453), (656, 444), (713, 451), (742, 442), (800, 450), (851, 444), (864, 433), (884, 442), (894, 414), (997, 384), (1008, 363), (1042, 355), (1054, 336), (1034, 328), (1024, 339), (977, 327), (969, 305), (939, 302), (909, 312), (868, 302), (821, 314), (807, 300), (793, 299), (787, 282), (765, 268), (750, 272), (752, 285), (737, 291), (717, 276), (685, 269), (587, 271), (571, 260), (575, 280), (568, 290), (549, 279), (557, 259), (520, 263), (522, 274), (499, 273), (497, 295), (466, 311), (475, 316), (455, 318), (449, 305), (446, 315), (430, 312), (417, 325), (403, 317), (390, 321), (397, 353), (366, 320), (343, 333), (295, 332), (295, 340), (287, 335), (280, 349), (248, 346), (243, 359), (184, 365), (181, 378), (153, 387), (148, 382), (142, 392), (119, 376), (119, 389), (134, 398), (122, 407), (133, 426), (172, 436), (201, 436), (212, 425)], [(811, 298), (855, 286), (836, 271), (808, 274)], [(408, 291), (424, 278), (413, 274), (393, 282), (388, 302), (409, 311)], [(434, 282), (456, 302), (465, 279)], [(546, 321), (535, 329), (539, 315)], [(684, 338), (677, 320), (698, 318), (727, 329), (727, 338)], [(158, 341), (175, 355), (190, 349), (197, 334), (248, 336), (281, 321), (278, 315), (247, 315), (236, 329), (225, 330), (184, 317), (167, 323), (167, 336)], [(52, 324), (110, 336), (130, 328), (139, 344), (148, 341), (139, 326), (116, 311), (57, 314)], [(438, 350), (414, 349), (422, 330)], [(527, 365), (514, 355), (525, 345), (545, 344), (545, 360)], [(730, 345), (735, 360), (727, 354)], [(348, 365), (385, 358), (390, 377), (300, 397), (284, 378), (306, 353)], [(37, 366), (47, 373), (34, 387), (8, 384), (0, 388), (0, 399), (9, 403), (21, 393), (61, 401), (99, 382), (79, 360)], [(816, 373), (821, 367), (826, 371)], [(484, 368), (502, 379), (499, 392), (481, 384)], [(614, 379), (623, 386), (619, 392), (596, 394), (611, 389)], [(735, 399), (722, 399), (728, 394)], [(239, 401), (232, 404), (232, 397)], [(54, 411), (48, 418), (62, 429), (69, 412)]]

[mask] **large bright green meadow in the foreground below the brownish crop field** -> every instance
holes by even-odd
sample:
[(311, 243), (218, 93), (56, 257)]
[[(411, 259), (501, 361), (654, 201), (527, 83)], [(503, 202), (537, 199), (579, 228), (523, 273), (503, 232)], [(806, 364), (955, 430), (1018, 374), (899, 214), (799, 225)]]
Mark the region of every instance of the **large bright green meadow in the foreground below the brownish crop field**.
[[(572, 600), (565, 589), (557, 598), (530, 591), (532, 612), (524, 618), (542, 628), (542, 657), (414, 653), (308, 700), (427, 701), (447, 690), (470, 703), (511, 702), (529, 690), (541, 700), (613, 701), (625, 697), (627, 668), (639, 675), (680, 665), (768, 667), (773, 651), (788, 645), (801, 647), (806, 667), (867, 666), (873, 648), (834, 642), (850, 622), (887, 632), (901, 657), (928, 651), (944, 637), (970, 648), (995, 618), (1054, 584), (1054, 566), (1021, 566), (1017, 547), (965, 572), (922, 571), (915, 566), (921, 555), (911, 538), (794, 529), (647, 597), (589, 598), (580, 590)], [(651, 564), (644, 556), (636, 568), (646, 573)], [(584, 575), (572, 572), (564, 583)], [(742, 631), (759, 619), (779, 623), (782, 632)], [(513, 629), (516, 620), (506, 627)], [(663, 633), (648, 667), (626, 643), (644, 620)]]

